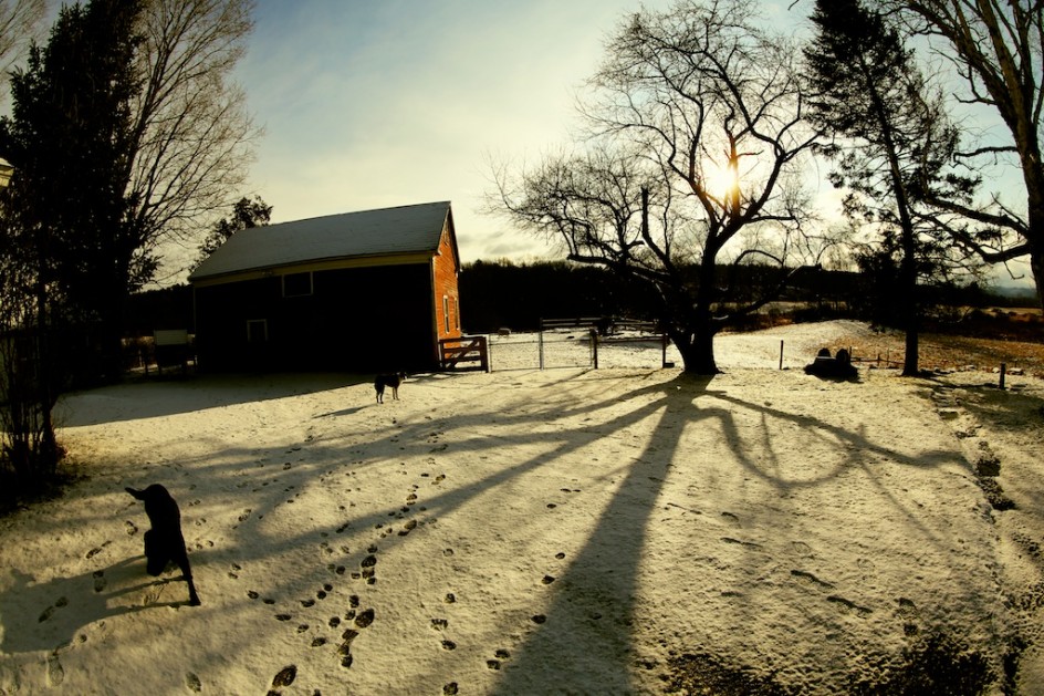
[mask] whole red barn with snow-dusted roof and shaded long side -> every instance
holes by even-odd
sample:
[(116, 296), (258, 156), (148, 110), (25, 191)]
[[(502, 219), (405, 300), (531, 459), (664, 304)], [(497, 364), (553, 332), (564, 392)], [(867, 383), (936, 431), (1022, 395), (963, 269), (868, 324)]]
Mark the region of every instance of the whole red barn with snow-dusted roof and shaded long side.
[(246, 229), (189, 282), (200, 370), (434, 370), (460, 336), (448, 201)]

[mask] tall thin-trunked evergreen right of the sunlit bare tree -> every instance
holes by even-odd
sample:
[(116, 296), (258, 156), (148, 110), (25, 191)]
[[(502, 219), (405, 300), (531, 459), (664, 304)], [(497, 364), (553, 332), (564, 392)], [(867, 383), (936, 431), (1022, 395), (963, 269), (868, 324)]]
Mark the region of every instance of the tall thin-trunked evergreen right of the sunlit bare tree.
[[(933, 245), (918, 214), (926, 183), (944, 176), (957, 146), (941, 95), (932, 91), (901, 34), (860, 0), (816, 0), (813, 44), (805, 51), (815, 121), (833, 134), (822, 149), (831, 178), (849, 190), (852, 217), (898, 235), (905, 301), (902, 374), (918, 373), (918, 277)], [(935, 247), (938, 250), (938, 246)]]

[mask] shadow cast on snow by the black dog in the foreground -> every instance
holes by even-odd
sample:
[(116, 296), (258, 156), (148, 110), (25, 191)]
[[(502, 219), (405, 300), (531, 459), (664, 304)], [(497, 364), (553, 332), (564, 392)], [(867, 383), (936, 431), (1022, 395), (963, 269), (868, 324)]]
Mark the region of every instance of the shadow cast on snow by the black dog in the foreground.
[[(175, 586), (167, 590), (171, 582)], [(187, 606), (187, 599), (161, 601), (164, 594), (181, 598), (184, 592), (180, 573), (149, 578), (144, 555), (46, 582), (17, 569), (0, 571), (0, 653), (56, 651), (105, 619), (158, 606)]]

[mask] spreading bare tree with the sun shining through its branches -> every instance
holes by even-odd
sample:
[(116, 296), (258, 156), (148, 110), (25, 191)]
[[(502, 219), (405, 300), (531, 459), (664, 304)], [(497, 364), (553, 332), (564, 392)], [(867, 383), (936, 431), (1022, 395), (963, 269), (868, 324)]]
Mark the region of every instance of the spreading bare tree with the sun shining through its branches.
[[(805, 228), (800, 173), (816, 133), (800, 53), (762, 28), (758, 8), (686, 0), (628, 17), (582, 103), (581, 152), (497, 174), (495, 209), (560, 239), (573, 261), (655, 288), (686, 371), (699, 374), (718, 371), (718, 331), (824, 248)], [(725, 262), (762, 264), (765, 282), (733, 284)]]

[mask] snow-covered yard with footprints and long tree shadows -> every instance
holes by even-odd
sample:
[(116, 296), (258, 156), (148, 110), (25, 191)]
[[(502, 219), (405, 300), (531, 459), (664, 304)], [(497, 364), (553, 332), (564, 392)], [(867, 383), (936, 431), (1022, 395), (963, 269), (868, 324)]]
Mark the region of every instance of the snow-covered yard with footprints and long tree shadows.
[[(1021, 637), (1042, 693), (1044, 385), (798, 368), (858, 330), (721, 336), (712, 380), (649, 347), (383, 405), (344, 374), (71, 394), (83, 478), (0, 520), (0, 694), (646, 694), (697, 657), (835, 694), (932, 636), (992, 693)], [(986, 448), (1013, 510), (977, 484)], [(153, 482), (201, 606), (145, 573), (124, 487)]]

